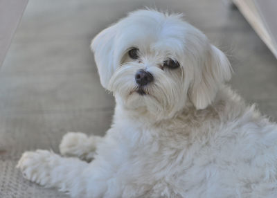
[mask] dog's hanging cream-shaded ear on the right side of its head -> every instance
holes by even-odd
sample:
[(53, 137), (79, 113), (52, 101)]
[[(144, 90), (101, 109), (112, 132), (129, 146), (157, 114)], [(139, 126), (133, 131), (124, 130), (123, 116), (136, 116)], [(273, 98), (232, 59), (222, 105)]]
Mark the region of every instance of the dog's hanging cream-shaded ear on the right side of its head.
[[(218, 48), (211, 45), (202, 62), (202, 69), (196, 73), (196, 80), (191, 84), (188, 96), (196, 109), (205, 109), (213, 102), (222, 83), (231, 79), (231, 64)], [(200, 77), (200, 78), (199, 78)]]

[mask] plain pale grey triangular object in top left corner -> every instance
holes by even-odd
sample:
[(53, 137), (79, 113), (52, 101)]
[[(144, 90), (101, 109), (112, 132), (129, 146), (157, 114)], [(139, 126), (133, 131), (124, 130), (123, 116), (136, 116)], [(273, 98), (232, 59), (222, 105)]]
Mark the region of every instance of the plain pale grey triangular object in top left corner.
[(0, 0), (0, 66), (3, 63), (27, 3), (28, 0)]

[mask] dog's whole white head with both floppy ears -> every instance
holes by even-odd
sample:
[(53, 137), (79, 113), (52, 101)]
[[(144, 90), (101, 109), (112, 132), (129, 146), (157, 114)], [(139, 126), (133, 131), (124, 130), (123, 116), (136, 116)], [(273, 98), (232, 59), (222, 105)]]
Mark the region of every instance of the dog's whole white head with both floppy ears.
[(91, 48), (100, 82), (120, 105), (174, 116), (204, 109), (231, 78), (228, 59), (197, 28), (155, 10), (138, 10), (102, 30)]

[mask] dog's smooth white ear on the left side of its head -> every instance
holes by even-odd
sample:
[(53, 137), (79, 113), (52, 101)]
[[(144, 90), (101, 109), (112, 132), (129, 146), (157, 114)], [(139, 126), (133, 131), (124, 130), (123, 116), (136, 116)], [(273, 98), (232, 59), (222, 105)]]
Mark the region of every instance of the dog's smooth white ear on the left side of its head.
[(115, 53), (116, 24), (102, 30), (91, 42), (91, 51), (98, 68), (100, 82), (107, 89), (109, 79), (116, 69)]

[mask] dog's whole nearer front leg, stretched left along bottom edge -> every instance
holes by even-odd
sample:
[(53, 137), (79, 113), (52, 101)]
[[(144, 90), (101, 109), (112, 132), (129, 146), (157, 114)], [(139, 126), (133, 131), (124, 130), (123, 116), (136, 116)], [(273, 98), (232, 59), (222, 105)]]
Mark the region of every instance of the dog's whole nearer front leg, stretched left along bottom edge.
[(107, 168), (107, 164), (105, 167), (101, 161), (87, 163), (78, 158), (65, 158), (47, 150), (37, 150), (24, 152), (17, 168), (26, 179), (42, 186), (59, 188), (71, 197), (105, 197), (108, 188), (113, 189), (114, 194), (119, 189), (116, 183), (109, 181), (112, 169)]

